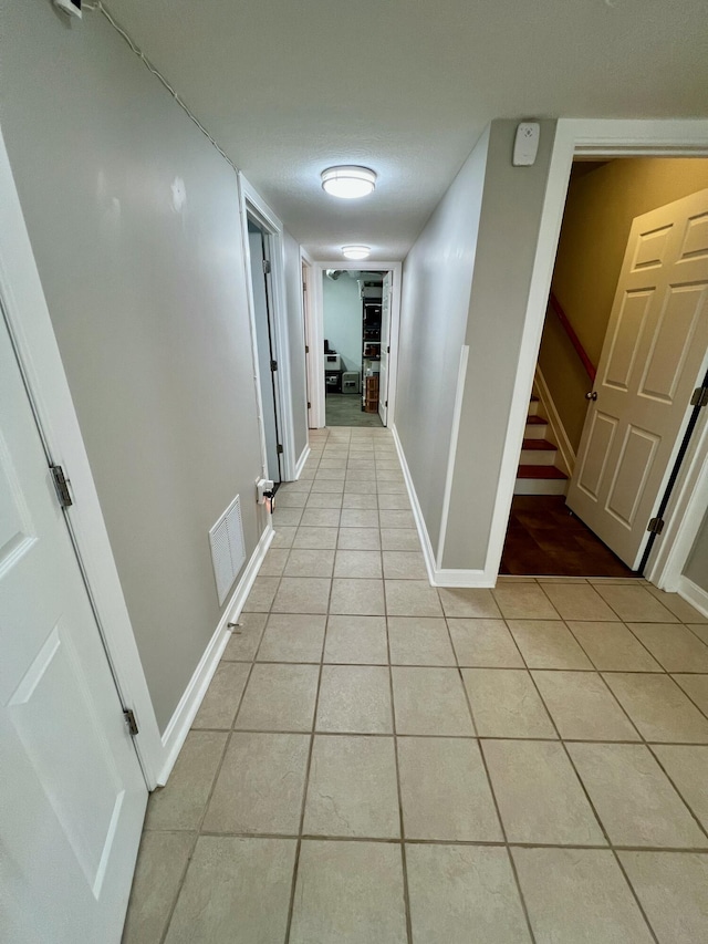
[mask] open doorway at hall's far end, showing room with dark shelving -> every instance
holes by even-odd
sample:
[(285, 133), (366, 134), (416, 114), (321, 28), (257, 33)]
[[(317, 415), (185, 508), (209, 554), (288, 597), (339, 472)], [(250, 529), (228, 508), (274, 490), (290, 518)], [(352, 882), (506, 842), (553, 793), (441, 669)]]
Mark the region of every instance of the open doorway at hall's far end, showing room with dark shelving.
[(385, 426), (389, 273), (326, 269), (322, 307), (326, 425)]

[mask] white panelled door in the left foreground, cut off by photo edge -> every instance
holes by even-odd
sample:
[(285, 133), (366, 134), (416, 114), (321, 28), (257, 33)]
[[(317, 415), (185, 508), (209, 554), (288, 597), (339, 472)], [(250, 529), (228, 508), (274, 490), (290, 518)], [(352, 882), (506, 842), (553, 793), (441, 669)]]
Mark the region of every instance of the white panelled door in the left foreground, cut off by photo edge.
[(0, 938), (121, 940), (147, 788), (0, 311)]

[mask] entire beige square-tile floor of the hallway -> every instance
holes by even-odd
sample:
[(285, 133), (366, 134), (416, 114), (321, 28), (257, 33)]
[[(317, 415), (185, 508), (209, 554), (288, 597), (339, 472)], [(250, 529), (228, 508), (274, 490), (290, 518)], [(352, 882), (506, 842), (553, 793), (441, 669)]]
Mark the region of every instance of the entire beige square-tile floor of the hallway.
[(708, 941), (708, 626), (643, 581), (436, 590), (385, 429), (312, 434), (126, 944)]

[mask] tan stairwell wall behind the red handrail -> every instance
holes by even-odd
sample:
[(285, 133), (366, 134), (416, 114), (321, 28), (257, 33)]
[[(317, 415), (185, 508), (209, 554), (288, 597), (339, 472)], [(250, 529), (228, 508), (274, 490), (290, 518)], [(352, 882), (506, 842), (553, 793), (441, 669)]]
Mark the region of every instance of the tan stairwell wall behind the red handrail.
[[(593, 364), (600, 361), (632, 220), (707, 187), (708, 159), (699, 158), (617, 159), (571, 183), (553, 291)], [(590, 380), (553, 313), (539, 364), (577, 448)]]

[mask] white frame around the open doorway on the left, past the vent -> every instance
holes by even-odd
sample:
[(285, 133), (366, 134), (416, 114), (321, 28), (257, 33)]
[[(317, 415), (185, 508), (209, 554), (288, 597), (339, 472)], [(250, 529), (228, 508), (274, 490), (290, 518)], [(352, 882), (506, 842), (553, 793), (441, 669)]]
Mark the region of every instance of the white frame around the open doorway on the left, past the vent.
[(288, 336), (288, 319), (285, 311), (285, 247), (283, 225), (273, 210), (262, 199), (260, 194), (249, 184), (239, 172), (239, 204), (241, 207), (241, 236), (243, 242), (243, 262), (246, 267), (246, 291), (248, 295), (249, 318), (251, 325), (251, 346), (253, 371), (256, 377), (256, 400), (258, 403), (258, 423), (261, 434), (261, 464), (266, 475), (268, 460), (266, 456), (266, 432), (263, 426), (263, 403), (261, 398), (260, 371), (258, 366), (258, 349), (256, 342), (256, 307), (253, 303), (253, 284), (251, 282), (251, 258), (248, 241), (248, 218), (257, 222), (270, 236), (271, 245), (271, 302), (275, 341), (275, 397), (278, 405), (278, 422), (281, 436), (282, 478), (283, 481), (295, 479), (295, 429), (292, 418), (292, 387), (290, 378), (290, 344)]

